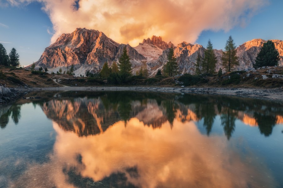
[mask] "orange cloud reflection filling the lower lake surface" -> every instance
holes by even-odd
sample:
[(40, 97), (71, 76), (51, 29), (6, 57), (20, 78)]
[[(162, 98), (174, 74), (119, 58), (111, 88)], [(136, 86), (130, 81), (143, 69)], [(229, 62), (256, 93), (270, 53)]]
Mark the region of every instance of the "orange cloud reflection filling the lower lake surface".
[[(126, 127), (121, 121), (103, 134), (79, 137), (53, 122), (58, 135), (50, 162), (30, 165), (18, 182), (28, 187), (75, 187), (63, 172), (75, 167), (82, 177), (95, 181), (122, 172), (138, 187), (275, 186), (264, 165), (229, 148), (225, 138), (208, 138), (193, 122), (175, 119), (173, 124), (174, 129), (168, 121), (153, 129), (131, 118)], [(131, 167), (138, 175), (130, 175)]]

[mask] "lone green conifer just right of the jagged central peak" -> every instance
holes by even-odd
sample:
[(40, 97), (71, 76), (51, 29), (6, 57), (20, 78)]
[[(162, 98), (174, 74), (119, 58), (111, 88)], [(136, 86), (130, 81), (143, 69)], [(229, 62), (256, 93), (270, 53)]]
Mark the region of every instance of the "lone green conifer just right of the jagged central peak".
[(176, 57), (174, 56), (174, 49), (169, 48), (169, 53), (167, 55), (167, 63), (164, 66), (164, 74), (166, 76), (175, 76), (178, 74), (178, 64)]

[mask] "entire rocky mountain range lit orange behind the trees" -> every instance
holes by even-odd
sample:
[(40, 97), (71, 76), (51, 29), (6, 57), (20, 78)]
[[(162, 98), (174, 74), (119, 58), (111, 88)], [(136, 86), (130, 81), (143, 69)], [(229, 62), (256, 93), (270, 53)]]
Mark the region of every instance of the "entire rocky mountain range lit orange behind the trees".
[[(279, 66), (283, 65), (283, 41), (272, 40), (280, 55)], [(237, 50), (240, 65), (236, 70), (250, 70), (255, 63), (256, 56), (266, 41), (253, 39), (240, 45)], [(144, 39), (136, 47), (129, 44), (119, 44), (108, 38), (103, 32), (92, 29), (77, 28), (71, 34), (62, 34), (55, 43), (47, 47), (40, 59), (35, 62), (36, 67), (47, 67), (49, 72), (57, 72), (59, 68), (67, 70), (75, 66), (75, 76), (85, 75), (87, 71), (99, 72), (105, 62), (109, 66), (118, 62), (122, 50), (126, 47), (132, 63), (133, 74), (146, 68), (150, 76), (154, 76), (158, 69), (162, 69), (167, 62), (169, 48), (174, 48), (174, 54), (180, 68), (180, 73), (193, 74), (197, 52), (204, 56), (205, 48), (200, 44), (182, 42), (176, 46), (167, 43), (161, 37), (152, 36)], [(222, 67), (222, 50), (214, 50), (217, 58), (216, 71)]]

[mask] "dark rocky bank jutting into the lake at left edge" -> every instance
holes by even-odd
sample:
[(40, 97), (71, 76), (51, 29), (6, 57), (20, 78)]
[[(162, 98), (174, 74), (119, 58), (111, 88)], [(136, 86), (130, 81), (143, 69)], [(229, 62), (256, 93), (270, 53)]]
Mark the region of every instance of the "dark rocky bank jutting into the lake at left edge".
[(20, 96), (19, 92), (13, 88), (4, 87), (0, 84), (0, 105), (13, 102)]

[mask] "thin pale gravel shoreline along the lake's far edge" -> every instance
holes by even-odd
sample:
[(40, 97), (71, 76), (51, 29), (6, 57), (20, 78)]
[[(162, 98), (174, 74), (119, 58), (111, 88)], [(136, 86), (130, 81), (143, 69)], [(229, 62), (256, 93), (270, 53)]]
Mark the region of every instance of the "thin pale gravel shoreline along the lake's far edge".
[(87, 87), (32, 87), (16, 88), (19, 92), (31, 91), (150, 91), (166, 93), (191, 93), (226, 95), (245, 98), (267, 99), (283, 102), (282, 88), (217, 88), (217, 87), (156, 87), (156, 86), (87, 86)]

